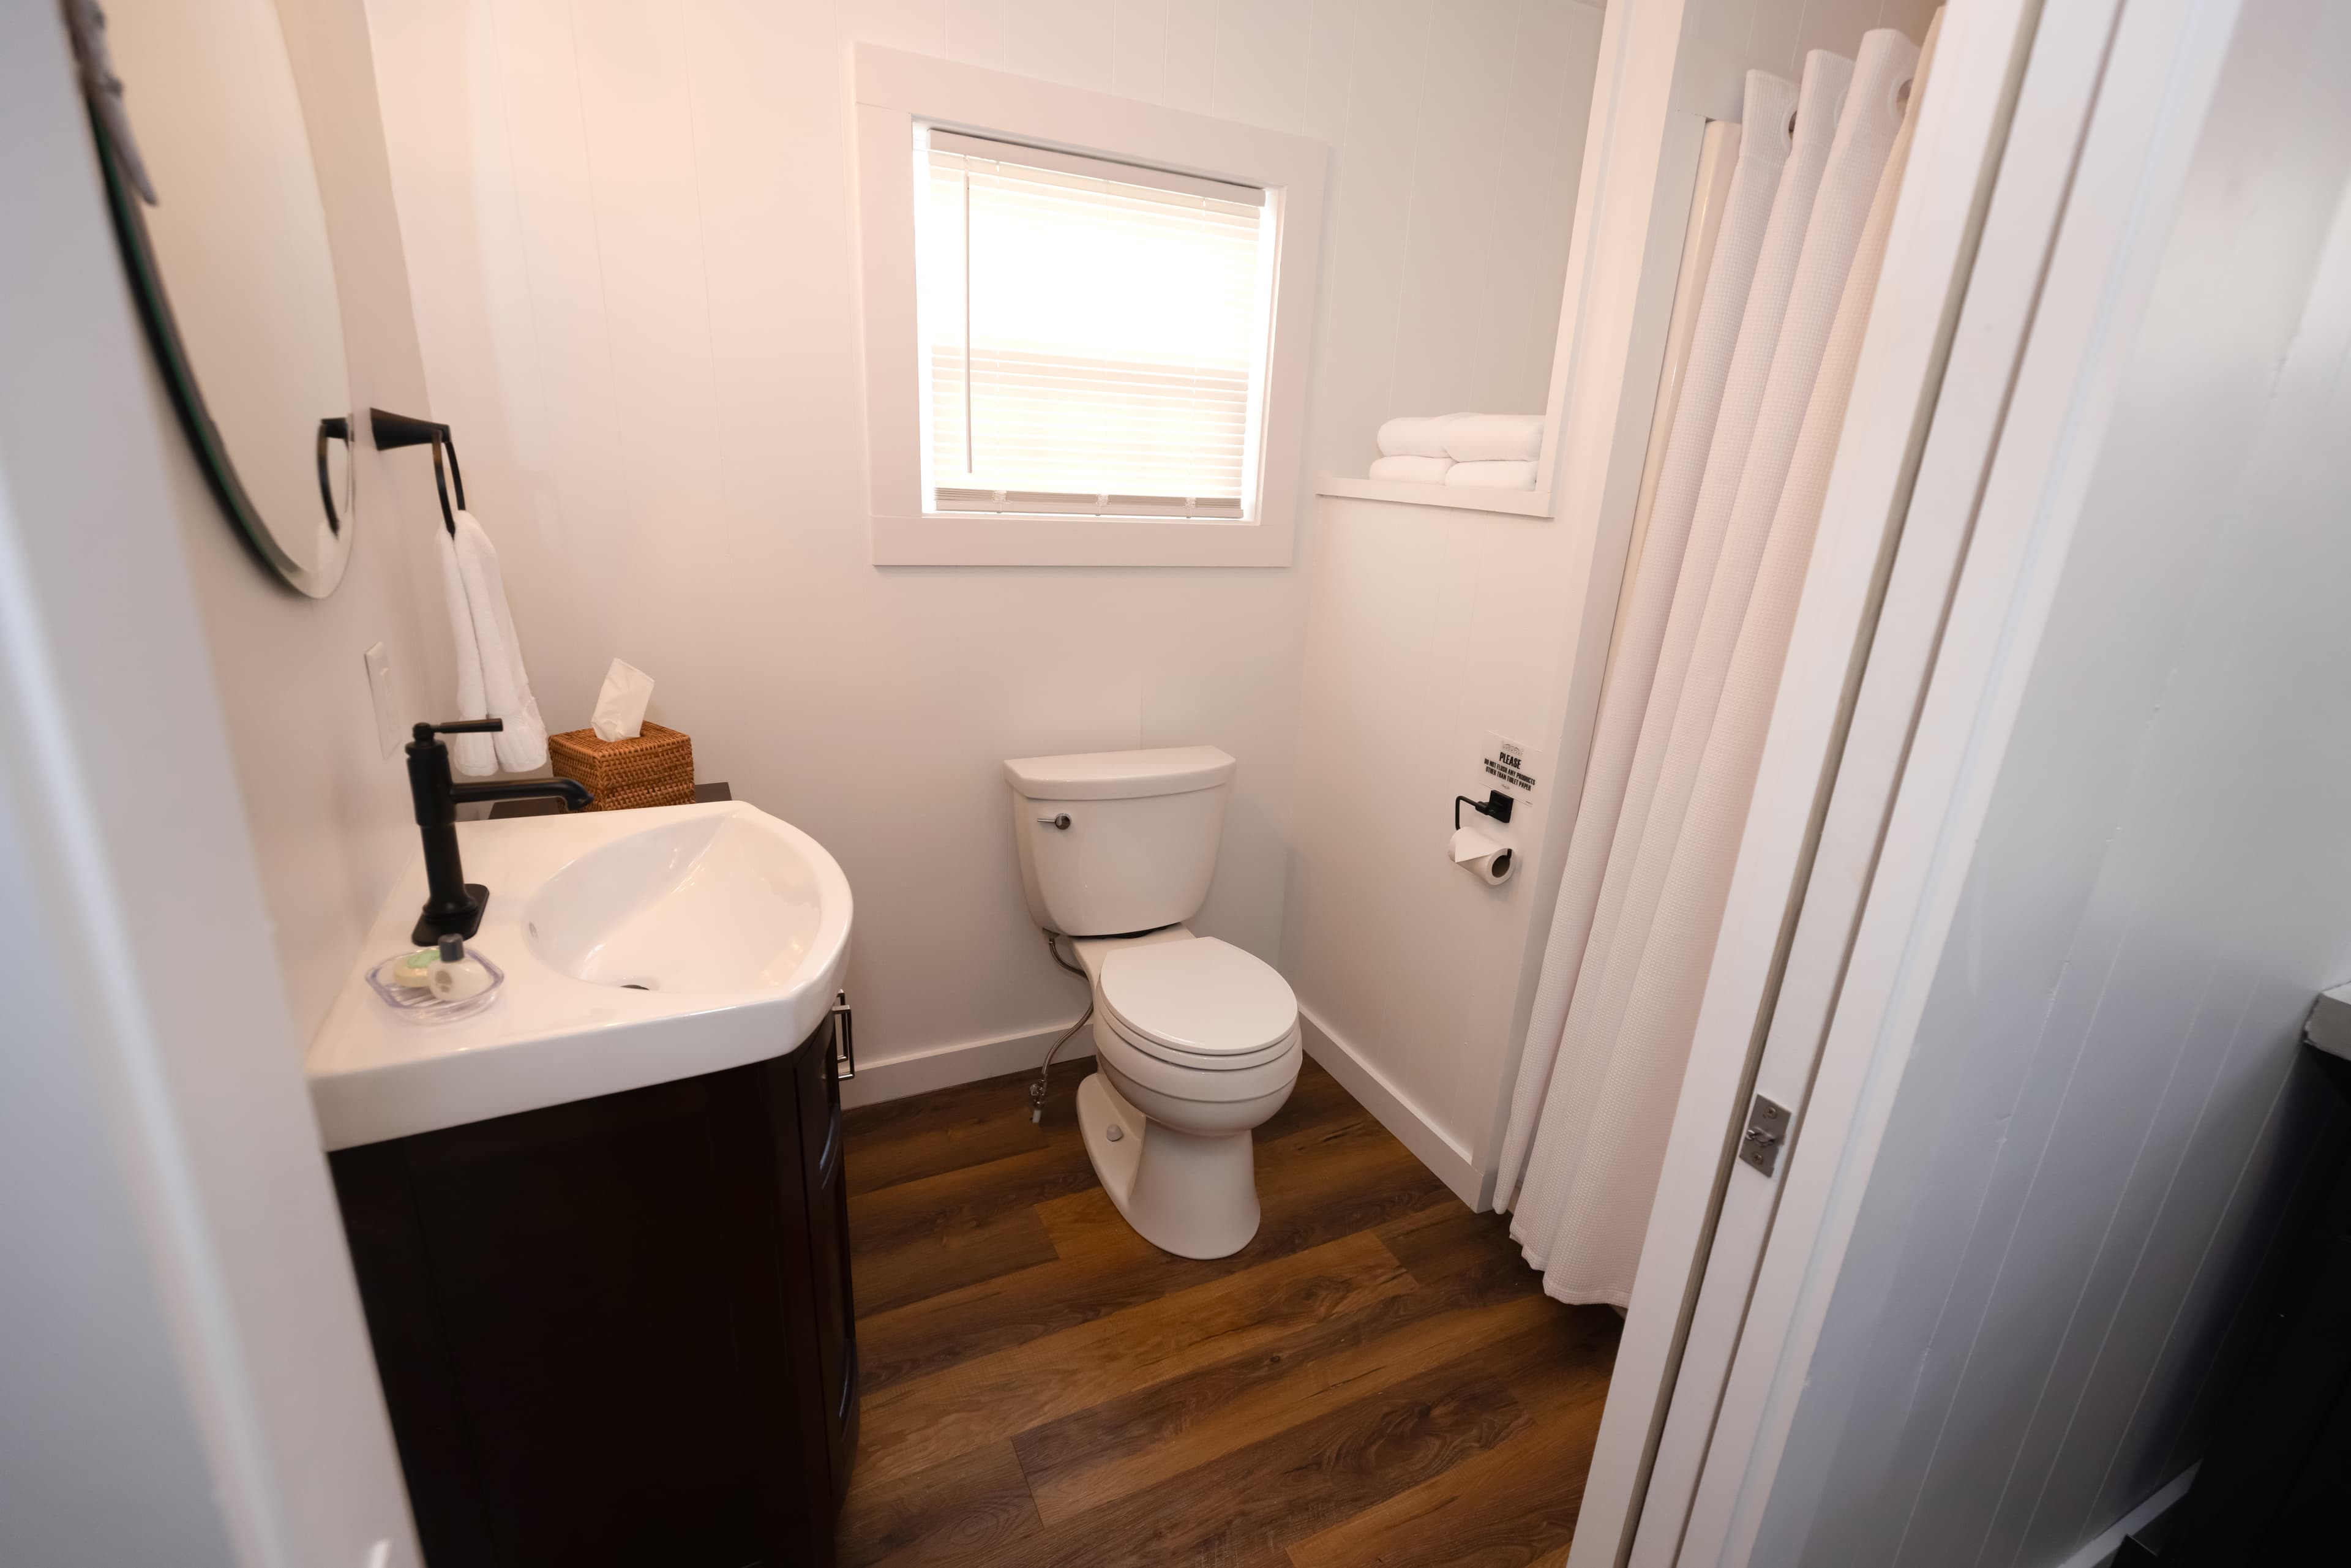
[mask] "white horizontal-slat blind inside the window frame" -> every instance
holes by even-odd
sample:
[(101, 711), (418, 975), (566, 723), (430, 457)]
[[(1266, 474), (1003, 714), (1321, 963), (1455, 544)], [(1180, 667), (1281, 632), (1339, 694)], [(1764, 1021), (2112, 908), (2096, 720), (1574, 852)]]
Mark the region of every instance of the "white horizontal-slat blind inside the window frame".
[(917, 158), (931, 510), (1244, 520), (1265, 193), (940, 129)]

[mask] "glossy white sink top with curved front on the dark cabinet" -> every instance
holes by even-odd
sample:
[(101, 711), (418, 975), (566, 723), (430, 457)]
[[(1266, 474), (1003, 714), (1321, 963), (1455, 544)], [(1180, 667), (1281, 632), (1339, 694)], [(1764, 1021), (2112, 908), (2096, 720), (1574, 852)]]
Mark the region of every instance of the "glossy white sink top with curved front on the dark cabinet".
[(783, 1056), (849, 961), (849, 879), (743, 802), (461, 823), (489, 886), (473, 947), (505, 971), (480, 1016), (418, 1025), (367, 985), (409, 947), (414, 858), (303, 1056), (343, 1150)]

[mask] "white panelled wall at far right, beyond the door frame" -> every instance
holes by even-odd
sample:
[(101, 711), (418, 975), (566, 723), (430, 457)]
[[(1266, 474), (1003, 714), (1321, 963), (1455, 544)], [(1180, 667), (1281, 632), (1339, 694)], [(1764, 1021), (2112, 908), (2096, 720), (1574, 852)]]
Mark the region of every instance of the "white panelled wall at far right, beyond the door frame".
[(2245, 7), (1759, 1563), (2055, 1563), (2123, 1516), (2342, 1133), (2297, 1039), (2351, 976), (2346, 49)]

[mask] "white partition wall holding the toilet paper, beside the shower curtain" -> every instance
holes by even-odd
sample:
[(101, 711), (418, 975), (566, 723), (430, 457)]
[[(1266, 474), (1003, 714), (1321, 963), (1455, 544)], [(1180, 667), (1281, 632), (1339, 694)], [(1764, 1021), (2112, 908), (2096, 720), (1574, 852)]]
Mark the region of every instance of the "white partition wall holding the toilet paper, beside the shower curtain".
[[(1660, 99), (1672, 103), (1662, 115), (1669, 146), (1655, 212), (1646, 205), (1655, 129), (1596, 139), (1587, 160), (1585, 190), (1613, 183), (1610, 200), (1625, 202), (1639, 183), (1641, 195), (1610, 212), (1629, 233), (1592, 240), (1596, 320), (1585, 322), (1580, 353), (1594, 360), (1610, 329), (1599, 317), (1636, 310), (1632, 277), (1613, 270), (1627, 254), (1629, 266), (1648, 263), (1643, 294), (1660, 294), (1660, 280), (1662, 294), (1672, 292), (1697, 125), (1737, 115), (1744, 73), (1794, 80), (1808, 49), (1850, 54), (1876, 26), (1923, 38), (1933, 14), (1930, 0), (1639, 2), (1646, 28), (1672, 33)], [(1643, 45), (1613, 33), (1603, 59), (1599, 12), (1563, 5), (1559, 14), (1573, 26), (1578, 59), (1596, 59), (1615, 80), (1625, 113), (1648, 113)], [(1622, 19), (1610, 26), (1622, 28)], [(1596, 115), (1608, 113), (1608, 92), (1603, 82)], [(1554, 520), (1333, 496), (1314, 503), (1284, 961), (1340, 1051), (1451, 1145), (1472, 1185), (1491, 1175), (1498, 1110), (1526, 1037), (1575, 818), (1662, 331), (1662, 313), (1634, 331), (1622, 383), (1610, 381), (1610, 364), (1578, 367)], [(1580, 400), (1601, 409), (1599, 425), (1589, 411), (1578, 421)], [(1606, 473), (1582, 473), (1599, 468)], [(1488, 731), (1535, 748), (1547, 778), (1535, 809), (1495, 830), (1519, 846), (1523, 865), (1502, 889), (1446, 858), (1453, 795), (1481, 795), (1476, 757)]]

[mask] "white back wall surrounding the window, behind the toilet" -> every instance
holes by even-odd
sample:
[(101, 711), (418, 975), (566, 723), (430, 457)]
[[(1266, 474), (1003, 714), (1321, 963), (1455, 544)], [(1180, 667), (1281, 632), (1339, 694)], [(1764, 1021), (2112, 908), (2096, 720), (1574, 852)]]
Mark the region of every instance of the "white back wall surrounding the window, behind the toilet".
[[(1025, 1039), (1077, 983), (1004, 757), (1239, 757), (1201, 931), (1281, 957), (1302, 567), (875, 569), (849, 42), (1328, 141), (1305, 473), (1399, 407), (1540, 400), (1585, 12), (1556, 0), (369, 7), (433, 411), (550, 724), (607, 661), (858, 900), (860, 1056)], [(1011, 1063), (1004, 1063), (1011, 1065)], [(1004, 1070), (997, 1065), (992, 1070)]]

